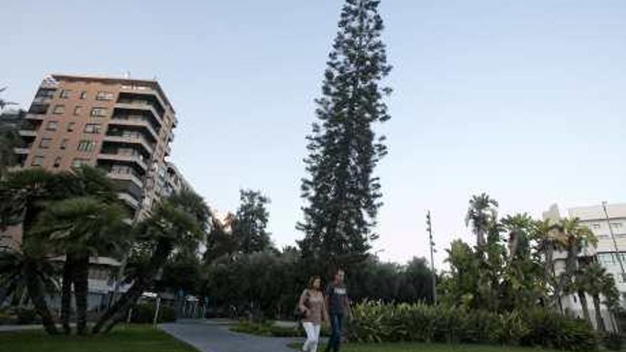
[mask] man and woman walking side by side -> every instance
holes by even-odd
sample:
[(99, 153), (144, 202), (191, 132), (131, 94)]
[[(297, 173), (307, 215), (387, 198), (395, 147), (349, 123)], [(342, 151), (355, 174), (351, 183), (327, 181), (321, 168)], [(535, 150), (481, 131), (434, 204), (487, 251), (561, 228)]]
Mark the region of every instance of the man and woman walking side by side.
[(337, 270), (333, 282), (328, 285), (324, 294), (322, 279), (314, 276), (309, 280), (309, 287), (300, 295), (298, 307), (303, 316), (302, 326), (304, 331), (307, 331), (307, 341), (302, 346), (303, 352), (317, 351), (322, 321), (330, 322), (331, 326), (326, 352), (339, 352), (341, 324), (344, 316), (351, 318), (350, 300), (344, 277), (344, 270)]

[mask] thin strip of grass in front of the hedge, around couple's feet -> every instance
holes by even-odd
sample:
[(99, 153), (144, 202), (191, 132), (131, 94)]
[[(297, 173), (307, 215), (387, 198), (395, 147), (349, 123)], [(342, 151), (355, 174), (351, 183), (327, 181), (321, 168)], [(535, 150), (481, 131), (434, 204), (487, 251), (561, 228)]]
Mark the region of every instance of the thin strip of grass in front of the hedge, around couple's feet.
[[(297, 350), (301, 343), (290, 347)], [(324, 351), (324, 346), (317, 351)], [(524, 348), (511, 346), (487, 345), (446, 345), (442, 343), (379, 343), (360, 344), (346, 343), (341, 346), (341, 352), (556, 352), (541, 348)]]

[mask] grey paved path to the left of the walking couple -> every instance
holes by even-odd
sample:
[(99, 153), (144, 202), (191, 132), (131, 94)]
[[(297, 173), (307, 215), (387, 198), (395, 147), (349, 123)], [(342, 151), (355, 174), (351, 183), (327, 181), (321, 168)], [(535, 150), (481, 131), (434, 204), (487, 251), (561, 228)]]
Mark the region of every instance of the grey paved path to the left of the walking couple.
[(161, 329), (203, 352), (295, 352), (287, 343), (302, 338), (276, 338), (238, 334), (214, 321), (180, 321)]

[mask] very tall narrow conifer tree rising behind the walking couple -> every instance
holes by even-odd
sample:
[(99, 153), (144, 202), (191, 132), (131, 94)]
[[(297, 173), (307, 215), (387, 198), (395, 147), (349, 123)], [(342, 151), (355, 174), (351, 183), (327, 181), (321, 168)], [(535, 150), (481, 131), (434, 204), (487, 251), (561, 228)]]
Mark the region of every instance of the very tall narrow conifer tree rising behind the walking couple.
[(302, 180), (304, 257), (329, 265), (363, 260), (381, 206), (381, 184), (373, 169), (386, 154), (385, 137), (373, 125), (390, 118), (381, 82), (391, 71), (381, 41), (383, 20), (376, 0), (346, 0), (316, 100), (317, 119), (307, 137)]

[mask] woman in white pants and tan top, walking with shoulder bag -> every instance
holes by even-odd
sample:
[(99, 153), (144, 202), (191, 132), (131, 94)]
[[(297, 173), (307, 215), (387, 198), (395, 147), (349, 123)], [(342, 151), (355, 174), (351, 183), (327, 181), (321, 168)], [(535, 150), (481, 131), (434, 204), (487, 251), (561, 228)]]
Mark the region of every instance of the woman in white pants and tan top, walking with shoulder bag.
[(309, 279), (309, 287), (304, 289), (298, 303), (300, 311), (304, 314), (302, 326), (307, 331), (307, 341), (302, 346), (303, 352), (317, 351), (319, 341), (319, 329), (322, 321), (328, 321), (326, 301), (322, 293), (322, 279), (314, 276)]

